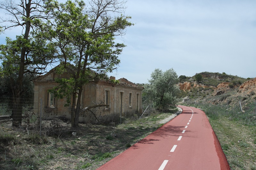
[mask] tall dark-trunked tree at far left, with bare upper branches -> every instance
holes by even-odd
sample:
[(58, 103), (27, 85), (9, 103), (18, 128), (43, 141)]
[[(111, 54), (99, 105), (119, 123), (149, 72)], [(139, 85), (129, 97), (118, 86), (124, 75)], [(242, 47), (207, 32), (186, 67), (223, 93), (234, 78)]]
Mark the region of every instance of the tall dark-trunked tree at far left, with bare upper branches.
[[(44, 3), (47, 6), (55, 4), (51, 0)], [(23, 89), (24, 75), (43, 73), (46, 65), (52, 63), (54, 48), (47, 43), (46, 33), (37, 32), (37, 28), (44, 25), (43, 21), (51, 18), (45, 13), (44, 3), (41, 0), (20, 0), (18, 4), (11, 0), (0, 2), (0, 9), (7, 14), (6, 18), (0, 18), (3, 24), (1, 31), (21, 27), (21, 33), (16, 36), (16, 40), (6, 38), (6, 44), (0, 46), (0, 60), (3, 65), (1, 74), (10, 78), (12, 89), (13, 126), (21, 125), (21, 97), (26, 92)], [(17, 73), (15, 78), (12, 77), (14, 72)]]

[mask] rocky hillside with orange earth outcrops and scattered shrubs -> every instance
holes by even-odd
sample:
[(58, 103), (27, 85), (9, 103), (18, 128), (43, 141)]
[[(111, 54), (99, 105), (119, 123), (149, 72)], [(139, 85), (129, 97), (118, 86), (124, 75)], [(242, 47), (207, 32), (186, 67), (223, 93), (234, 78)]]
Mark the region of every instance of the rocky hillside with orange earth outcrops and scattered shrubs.
[[(240, 78), (225, 73), (203, 72), (198, 83), (193, 77), (180, 76), (180, 101), (193, 99), (213, 104), (237, 104), (253, 102), (256, 99), (256, 78)], [(184, 100), (183, 100), (184, 101)]]

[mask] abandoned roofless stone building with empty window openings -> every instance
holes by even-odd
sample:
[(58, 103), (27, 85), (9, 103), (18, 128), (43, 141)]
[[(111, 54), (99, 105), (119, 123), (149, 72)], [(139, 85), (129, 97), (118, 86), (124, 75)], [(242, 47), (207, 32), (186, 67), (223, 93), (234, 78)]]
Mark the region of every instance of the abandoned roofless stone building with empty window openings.
[[(57, 99), (48, 92), (57, 85), (54, 78), (68, 78), (68, 74), (58, 75), (52, 69), (49, 73), (38, 77), (35, 81), (34, 112), (41, 112), (44, 119), (65, 117), (70, 119), (71, 106), (65, 107), (65, 99)], [(110, 77), (115, 79), (115, 77)], [(118, 84), (110, 81), (91, 81), (83, 86), (81, 108), (93, 106), (103, 102), (109, 107), (97, 107), (93, 110), (100, 122), (117, 122), (120, 116), (140, 114), (142, 112), (141, 91), (143, 87), (137, 86), (125, 78), (119, 79)], [(78, 99), (77, 99), (78, 100)], [(89, 112), (79, 115), (79, 122), (97, 123), (95, 116)]]

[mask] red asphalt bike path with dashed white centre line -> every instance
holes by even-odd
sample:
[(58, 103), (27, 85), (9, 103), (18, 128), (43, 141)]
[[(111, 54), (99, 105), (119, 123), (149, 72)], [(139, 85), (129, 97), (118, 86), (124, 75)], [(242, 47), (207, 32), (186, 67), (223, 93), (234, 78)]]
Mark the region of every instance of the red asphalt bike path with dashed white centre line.
[(205, 113), (178, 107), (180, 115), (97, 170), (230, 169)]

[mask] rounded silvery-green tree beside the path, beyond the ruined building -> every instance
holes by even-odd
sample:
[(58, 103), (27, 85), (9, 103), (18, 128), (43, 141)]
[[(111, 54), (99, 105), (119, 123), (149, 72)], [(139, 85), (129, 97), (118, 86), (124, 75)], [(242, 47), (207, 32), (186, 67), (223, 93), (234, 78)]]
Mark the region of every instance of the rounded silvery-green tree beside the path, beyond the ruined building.
[(149, 84), (145, 85), (144, 92), (148, 100), (153, 101), (156, 109), (174, 108), (178, 100), (176, 95), (180, 92), (177, 83), (179, 82), (178, 76), (173, 69), (162, 71), (155, 69), (151, 73), (151, 79), (148, 80)]

